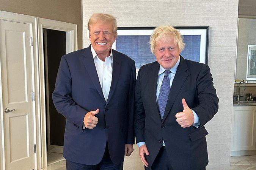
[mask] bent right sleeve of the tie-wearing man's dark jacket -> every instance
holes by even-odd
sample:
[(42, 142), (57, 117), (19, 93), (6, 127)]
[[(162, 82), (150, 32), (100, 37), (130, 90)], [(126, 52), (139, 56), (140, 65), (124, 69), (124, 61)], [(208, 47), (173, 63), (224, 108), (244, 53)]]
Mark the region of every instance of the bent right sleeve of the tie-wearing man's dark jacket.
[(205, 125), (218, 111), (218, 97), (213, 85), (212, 74), (207, 65), (203, 65), (197, 80), (198, 102), (195, 108), (191, 108), (199, 117), (200, 126)]

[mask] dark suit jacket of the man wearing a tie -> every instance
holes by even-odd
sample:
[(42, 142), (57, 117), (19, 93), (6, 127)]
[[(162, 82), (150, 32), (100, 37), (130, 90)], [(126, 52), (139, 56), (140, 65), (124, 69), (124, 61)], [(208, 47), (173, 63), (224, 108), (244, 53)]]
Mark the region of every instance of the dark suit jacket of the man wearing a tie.
[[(149, 151), (149, 170), (156, 158), (162, 140), (174, 170), (199, 170), (208, 164), (204, 125), (218, 110), (218, 97), (212, 75), (207, 65), (181, 61), (168, 97), (165, 114), (161, 120), (156, 103), (159, 63), (140, 68), (135, 90), (135, 136), (137, 142), (145, 141)], [(200, 126), (182, 128), (175, 114), (183, 111), (182, 98), (199, 117)]]

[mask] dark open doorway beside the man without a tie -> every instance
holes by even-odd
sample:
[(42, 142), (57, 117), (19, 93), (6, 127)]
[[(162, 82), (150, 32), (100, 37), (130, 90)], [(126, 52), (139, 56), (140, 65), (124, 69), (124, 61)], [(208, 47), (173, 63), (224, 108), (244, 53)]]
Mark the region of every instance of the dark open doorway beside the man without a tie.
[(66, 32), (43, 29), (44, 42), (44, 73), (46, 99), (46, 140), (47, 165), (63, 160), (63, 141), (66, 118), (58, 113), (52, 101), (52, 93), (58, 67), (63, 55), (66, 54)]

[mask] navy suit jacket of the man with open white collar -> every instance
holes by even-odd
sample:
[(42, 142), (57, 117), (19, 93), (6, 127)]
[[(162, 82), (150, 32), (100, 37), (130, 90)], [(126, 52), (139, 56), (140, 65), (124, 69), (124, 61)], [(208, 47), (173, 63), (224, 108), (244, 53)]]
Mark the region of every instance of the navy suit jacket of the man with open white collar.
[[(63, 156), (72, 162), (98, 164), (106, 143), (113, 163), (124, 161), (124, 145), (134, 144), (135, 62), (113, 50), (113, 74), (107, 102), (102, 93), (91, 46), (61, 58), (53, 102), (66, 117)], [(99, 108), (93, 130), (83, 118)], [(58, 120), (56, 120), (58, 121)]]

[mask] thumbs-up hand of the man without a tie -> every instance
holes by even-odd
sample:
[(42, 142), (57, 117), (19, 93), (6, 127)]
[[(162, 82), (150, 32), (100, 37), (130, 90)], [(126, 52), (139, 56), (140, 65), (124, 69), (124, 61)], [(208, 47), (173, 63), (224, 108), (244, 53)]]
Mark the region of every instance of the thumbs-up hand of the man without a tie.
[(85, 117), (83, 118), (83, 124), (85, 124), (85, 127), (88, 129), (93, 129), (96, 127), (98, 123), (98, 118), (94, 116), (95, 114), (99, 113), (99, 109), (95, 111), (89, 111), (85, 114)]

